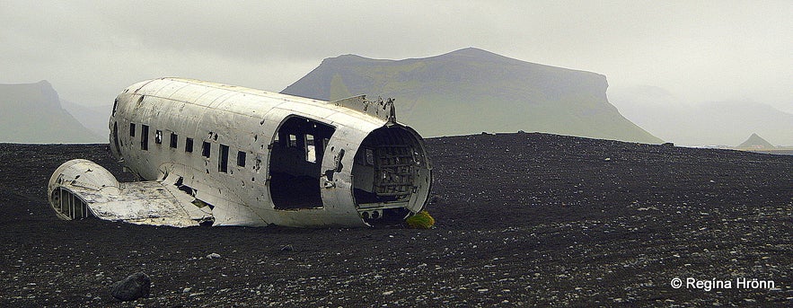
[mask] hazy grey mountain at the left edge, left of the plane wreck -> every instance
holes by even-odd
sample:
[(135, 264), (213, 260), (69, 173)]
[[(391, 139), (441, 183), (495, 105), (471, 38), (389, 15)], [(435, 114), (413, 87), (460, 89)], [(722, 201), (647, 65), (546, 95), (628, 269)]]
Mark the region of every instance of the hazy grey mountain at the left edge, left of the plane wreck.
[(61, 107), (47, 81), (0, 84), (0, 106), (0, 142), (107, 143)]

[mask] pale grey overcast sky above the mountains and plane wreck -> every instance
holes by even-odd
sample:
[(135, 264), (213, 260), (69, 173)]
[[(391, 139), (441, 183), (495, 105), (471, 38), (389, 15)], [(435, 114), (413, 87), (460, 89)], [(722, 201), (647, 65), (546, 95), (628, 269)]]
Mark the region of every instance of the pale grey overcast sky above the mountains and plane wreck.
[(46, 79), (62, 99), (86, 105), (159, 76), (278, 92), (326, 57), (467, 47), (596, 72), (612, 87), (793, 112), (789, 0), (0, 0), (0, 83)]

